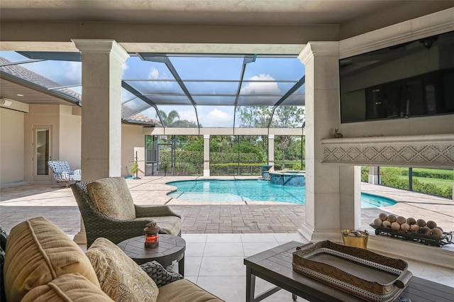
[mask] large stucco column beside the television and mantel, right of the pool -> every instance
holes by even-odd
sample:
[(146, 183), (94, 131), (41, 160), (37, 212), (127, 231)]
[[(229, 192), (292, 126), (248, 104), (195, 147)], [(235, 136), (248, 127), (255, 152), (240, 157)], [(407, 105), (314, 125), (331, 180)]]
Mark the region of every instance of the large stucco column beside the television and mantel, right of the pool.
[(341, 229), (354, 228), (356, 221), (358, 169), (322, 163), (321, 140), (331, 138), (341, 123), (338, 47), (338, 42), (310, 42), (299, 55), (306, 67), (306, 221), (299, 232), (311, 241), (339, 242)]

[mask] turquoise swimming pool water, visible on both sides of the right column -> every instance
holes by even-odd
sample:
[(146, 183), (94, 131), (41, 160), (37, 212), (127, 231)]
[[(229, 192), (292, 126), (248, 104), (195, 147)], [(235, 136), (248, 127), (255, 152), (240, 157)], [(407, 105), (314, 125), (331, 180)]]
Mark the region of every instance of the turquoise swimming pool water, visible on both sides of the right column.
[[(304, 204), (306, 187), (277, 186), (270, 181), (258, 180), (187, 180), (170, 181), (176, 186), (168, 196), (190, 201), (280, 201)], [(391, 198), (361, 193), (361, 208), (392, 206), (396, 201)]]

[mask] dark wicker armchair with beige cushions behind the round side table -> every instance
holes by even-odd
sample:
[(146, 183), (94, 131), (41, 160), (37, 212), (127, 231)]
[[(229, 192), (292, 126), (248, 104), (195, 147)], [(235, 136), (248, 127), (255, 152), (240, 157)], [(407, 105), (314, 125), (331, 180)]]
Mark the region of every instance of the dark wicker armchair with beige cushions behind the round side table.
[(143, 235), (147, 223), (155, 222), (159, 233), (181, 236), (181, 216), (169, 206), (138, 206), (123, 177), (109, 177), (71, 184), (87, 233), (87, 248), (98, 237), (115, 244)]

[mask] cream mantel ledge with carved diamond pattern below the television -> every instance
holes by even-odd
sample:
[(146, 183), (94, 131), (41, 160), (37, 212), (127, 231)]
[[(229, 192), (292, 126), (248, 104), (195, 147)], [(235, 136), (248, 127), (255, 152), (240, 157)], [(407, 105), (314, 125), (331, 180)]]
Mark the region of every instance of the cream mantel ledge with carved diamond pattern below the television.
[(454, 135), (322, 140), (323, 163), (454, 169)]

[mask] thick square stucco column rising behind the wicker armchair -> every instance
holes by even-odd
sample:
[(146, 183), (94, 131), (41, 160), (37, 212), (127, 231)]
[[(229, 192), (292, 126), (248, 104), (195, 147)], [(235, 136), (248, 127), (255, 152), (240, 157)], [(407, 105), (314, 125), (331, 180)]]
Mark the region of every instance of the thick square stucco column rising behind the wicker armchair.
[(82, 53), (82, 181), (121, 176), (121, 65), (114, 40), (72, 40)]

